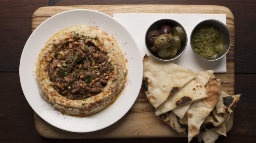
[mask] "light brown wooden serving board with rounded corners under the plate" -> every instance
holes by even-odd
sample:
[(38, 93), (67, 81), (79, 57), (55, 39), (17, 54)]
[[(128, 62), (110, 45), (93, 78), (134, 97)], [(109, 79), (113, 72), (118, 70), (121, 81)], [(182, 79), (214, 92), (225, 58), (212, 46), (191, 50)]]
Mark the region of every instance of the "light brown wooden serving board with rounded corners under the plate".
[[(112, 16), (114, 13), (187, 13), (187, 14), (226, 14), (227, 27), (231, 33), (232, 43), (227, 54), (227, 73), (214, 74), (221, 79), (221, 89), (234, 94), (235, 85), (235, 25), (232, 12), (223, 6), (210, 5), (88, 5), (41, 7), (32, 16), (32, 31), (44, 20), (66, 10), (90, 9)], [(185, 137), (176, 133), (169, 125), (155, 116), (155, 109), (149, 103), (143, 90), (128, 113), (117, 123), (91, 133), (72, 133), (58, 129), (46, 123), (34, 114), (37, 132), (47, 138), (143, 138), (143, 137)], [(233, 126), (233, 116), (227, 124), (227, 131)]]

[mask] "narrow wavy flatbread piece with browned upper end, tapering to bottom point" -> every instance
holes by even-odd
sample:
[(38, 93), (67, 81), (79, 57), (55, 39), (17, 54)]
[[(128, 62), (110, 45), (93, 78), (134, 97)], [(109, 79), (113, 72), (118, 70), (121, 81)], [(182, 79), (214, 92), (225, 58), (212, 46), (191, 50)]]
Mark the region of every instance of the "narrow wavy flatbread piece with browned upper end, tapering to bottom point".
[(188, 143), (199, 133), (204, 120), (220, 99), (220, 85), (214, 76), (210, 78), (206, 89), (207, 98), (192, 103), (188, 109)]

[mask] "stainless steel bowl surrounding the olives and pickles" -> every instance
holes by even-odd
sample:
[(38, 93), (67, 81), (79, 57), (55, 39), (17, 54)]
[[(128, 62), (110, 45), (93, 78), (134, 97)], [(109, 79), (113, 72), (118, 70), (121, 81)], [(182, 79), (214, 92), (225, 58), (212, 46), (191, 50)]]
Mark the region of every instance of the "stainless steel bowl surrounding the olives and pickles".
[[(157, 55), (156, 52), (152, 51), (150, 49), (150, 47), (153, 45), (152, 43), (150, 43), (148, 40), (147, 40), (147, 35), (149, 33), (149, 31), (151, 30), (160, 30), (160, 28), (163, 26), (163, 25), (170, 25), (171, 27), (174, 27), (174, 26), (180, 26), (182, 28), (182, 30), (184, 31), (185, 33), (185, 40), (183, 42), (181, 42), (181, 48), (179, 51), (177, 51), (177, 54), (174, 56), (174, 57), (171, 57), (171, 58), (161, 58)], [(157, 20), (156, 22), (154, 22), (153, 24), (151, 24), (148, 28), (148, 30), (146, 31), (146, 34), (145, 34), (145, 44), (146, 44), (146, 48), (147, 50), (149, 51), (149, 53), (155, 57), (156, 59), (158, 60), (161, 60), (161, 61), (171, 61), (171, 60), (174, 60), (176, 58), (178, 58), (186, 49), (186, 46), (187, 46), (187, 42), (188, 42), (188, 37), (187, 37), (187, 33), (184, 29), (184, 27), (178, 23), (177, 21), (175, 20), (171, 20), (171, 19), (160, 19), (160, 20)]]

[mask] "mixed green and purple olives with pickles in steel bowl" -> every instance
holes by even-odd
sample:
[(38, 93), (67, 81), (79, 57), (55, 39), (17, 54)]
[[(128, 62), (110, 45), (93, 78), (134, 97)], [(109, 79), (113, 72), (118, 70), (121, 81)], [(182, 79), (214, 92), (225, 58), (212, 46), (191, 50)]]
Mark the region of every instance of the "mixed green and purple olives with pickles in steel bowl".
[(152, 43), (150, 49), (161, 58), (174, 57), (184, 39), (185, 32), (180, 26), (163, 25), (159, 30), (149, 31), (147, 35), (147, 40)]

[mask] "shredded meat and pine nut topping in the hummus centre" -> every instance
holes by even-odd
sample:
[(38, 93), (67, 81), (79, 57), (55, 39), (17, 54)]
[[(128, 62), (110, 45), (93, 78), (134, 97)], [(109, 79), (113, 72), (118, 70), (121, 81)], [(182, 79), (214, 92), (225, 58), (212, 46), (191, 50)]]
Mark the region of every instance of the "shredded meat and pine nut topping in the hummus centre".
[(100, 51), (88, 37), (75, 33), (61, 48), (50, 55), (48, 75), (54, 89), (71, 99), (86, 99), (105, 87), (108, 75), (114, 70), (107, 53)]

